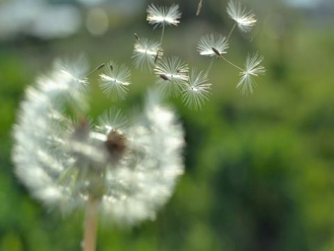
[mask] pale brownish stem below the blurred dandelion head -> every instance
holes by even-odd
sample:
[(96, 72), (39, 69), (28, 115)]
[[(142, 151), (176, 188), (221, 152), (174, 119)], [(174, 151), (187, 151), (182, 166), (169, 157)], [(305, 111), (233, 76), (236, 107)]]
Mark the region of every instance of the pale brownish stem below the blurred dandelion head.
[(83, 251), (95, 251), (97, 236), (97, 205), (99, 201), (90, 197), (86, 207)]

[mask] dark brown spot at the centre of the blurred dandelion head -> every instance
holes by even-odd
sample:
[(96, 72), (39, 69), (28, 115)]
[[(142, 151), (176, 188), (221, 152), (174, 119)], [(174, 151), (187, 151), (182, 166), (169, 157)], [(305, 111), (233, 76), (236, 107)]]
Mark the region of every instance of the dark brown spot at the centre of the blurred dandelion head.
[(126, 149), (124, 135), (121, 135), (117, 130), (111, 130), (104, 144), (106, 146), (106, 150), (109, 153), (111, 161), (117, 162), (120, 160), (120, 158), (122, 158), (122, 155)]

